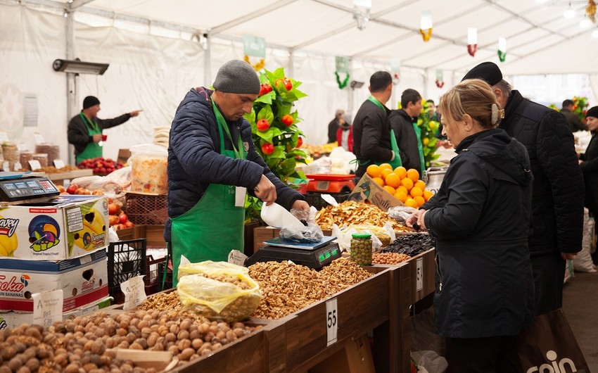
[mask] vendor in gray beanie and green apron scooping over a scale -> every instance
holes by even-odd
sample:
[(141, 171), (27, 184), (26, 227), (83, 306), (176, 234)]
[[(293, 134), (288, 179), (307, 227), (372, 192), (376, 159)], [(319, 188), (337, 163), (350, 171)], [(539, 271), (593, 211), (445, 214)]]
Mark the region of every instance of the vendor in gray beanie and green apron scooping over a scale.
[(260, 139), (255, 148), (251, 125), (243, 118), (260, 93), (253, 67), (229, 61), (212, 85), (213, 91), (197, 87), (187, 92), (170, 129), (170, 220), (164, 238), (172, 250), (175, 281), (183, 255), (198, 263), (227, 261), (231, 250), (243, 251), (246, 193), (286, 210), (310, 208), (260, 156), (273, 153), (274, 144)]

